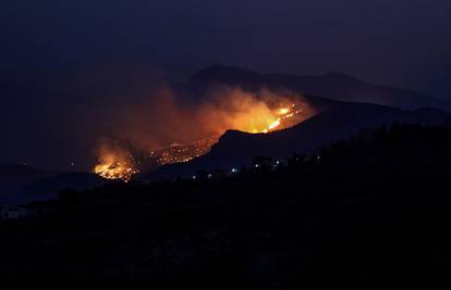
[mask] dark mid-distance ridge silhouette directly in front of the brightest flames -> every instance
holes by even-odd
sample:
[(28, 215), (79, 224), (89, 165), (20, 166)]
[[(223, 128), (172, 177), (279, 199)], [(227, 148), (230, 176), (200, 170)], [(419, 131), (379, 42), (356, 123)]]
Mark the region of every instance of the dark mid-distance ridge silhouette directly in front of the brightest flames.
[(208, 154), (188, 163), (163, 166), (147, 177), (188, 176), (200, 169), (230, 169), (249, 165), (255, 156), (285, 159), (293, 153), (310, 153), (363, 129), (393, 123), (441, 124), (449, 117), (449, 113), (434, 109), (406, 111), (376, 104), (341, 103), (292, 128), (271, 134), (229, 130)]

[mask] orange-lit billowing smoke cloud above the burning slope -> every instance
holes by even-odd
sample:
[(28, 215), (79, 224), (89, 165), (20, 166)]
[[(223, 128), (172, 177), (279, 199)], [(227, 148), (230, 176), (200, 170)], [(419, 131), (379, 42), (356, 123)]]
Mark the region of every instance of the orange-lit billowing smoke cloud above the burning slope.
[(105, 163), (105, 156), (111, 161), (112, 155), (124, 163), (136, 152), (216, 138), (229, 129), (255, 134), (283, 129), (315, 114), (315, 109), (302, 96), (289, 91), (249, 92), (222, 87), (194, 99), (175, 93), (169, 86), (160, 86), (147, 96), (110, 113), (107, 127), (99, 136), (100, 163)]

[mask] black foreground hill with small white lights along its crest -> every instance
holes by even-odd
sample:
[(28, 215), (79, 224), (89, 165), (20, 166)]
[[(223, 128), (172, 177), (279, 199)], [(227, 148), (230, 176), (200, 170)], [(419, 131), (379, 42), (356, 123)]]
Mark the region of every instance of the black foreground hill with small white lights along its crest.
[(227, 177), (62, 192), (0, 223), (2, 278), (278, 289), (448, 280), (451, 129), (393, 125)]

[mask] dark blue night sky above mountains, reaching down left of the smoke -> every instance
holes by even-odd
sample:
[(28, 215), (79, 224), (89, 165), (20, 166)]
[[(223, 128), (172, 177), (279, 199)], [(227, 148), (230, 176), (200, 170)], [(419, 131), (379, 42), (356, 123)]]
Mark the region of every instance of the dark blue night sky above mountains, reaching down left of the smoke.
[(0, 162), (85, 168), (87, 115), (211, 63), (451, 99), (450, 13), (448, 0), (2, 1)]

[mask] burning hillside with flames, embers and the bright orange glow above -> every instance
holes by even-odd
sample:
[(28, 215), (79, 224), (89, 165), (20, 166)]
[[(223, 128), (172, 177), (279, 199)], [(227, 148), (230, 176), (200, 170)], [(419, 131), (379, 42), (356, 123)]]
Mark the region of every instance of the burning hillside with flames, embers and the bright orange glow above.
[[(233, 91), (232, 94), (228, 94), (226, 101), (202, 104), (191, 114), (178, 109), (171, 110), (167, 115), (157, 112), (156, 114), (162, 119), (167, 116), (178, 118), (183, 116), (185, 121), (168, 119), (164, 123), (162, 121), (156, 123), (156, 126), (167, 126), (157, 128), (157, 133), (158, 135), (166, 133), (164, 137), (173, 136), (167, 139), (171, 144), (160, 146), (160, 149), (141, 149), (141, 151), (144, 152), (145, 159), (153, 160), (160, 166), (183, 163), (208, 153), (219, 136), (228, 129), (268, 134), (294, 126), (312, 116), (312, 112), (313, 110), (301, 99), (277, 96), (267, 100), (242, 91)], [(176, 135), (179, 131), (182, 133), (180, 136)], [(190, 133), (193, 134), (194, 141), (184, 141)], [(148, 135), (142, 136), (146, 136), (144, 139), (148, 138)], [(154, 131), (154, 137), (158, 139), (159, 136)], [(139, 164), (144, 163), (146, 162), (126, 150), (118, 148), (106, 150), (103, 147), (99, 151), (99, 164), (95, 166), (94, 172), (103, 178), (129, 181), (139, 172)]]

